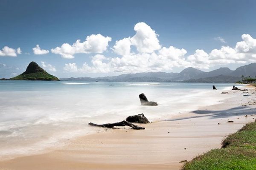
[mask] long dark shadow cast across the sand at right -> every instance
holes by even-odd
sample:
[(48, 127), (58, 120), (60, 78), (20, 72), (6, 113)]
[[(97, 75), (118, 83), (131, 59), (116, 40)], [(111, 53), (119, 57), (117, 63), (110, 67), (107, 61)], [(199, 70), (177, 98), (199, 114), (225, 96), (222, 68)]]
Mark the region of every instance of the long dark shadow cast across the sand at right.
[(226, 118), (230, 116), (252, 115), (252, 114), (256, 114), (256, 108), (250, 108), (248, 106), (246, 107), (239, 106), (239, 107), (230, 108), (227, 110), (219, 110), (219, 111), (197, 110), (197, 111), (192, 111), (192, 113), (196, 113), (198, 114), (198, 116), (190, 116), (190, 117), (179, 118), (179, 119), (169, 119), (168, 121), (192, 119), (192, 118), (207, 117), (207, 116), (210, 119), (217, 119), (217, 118)]

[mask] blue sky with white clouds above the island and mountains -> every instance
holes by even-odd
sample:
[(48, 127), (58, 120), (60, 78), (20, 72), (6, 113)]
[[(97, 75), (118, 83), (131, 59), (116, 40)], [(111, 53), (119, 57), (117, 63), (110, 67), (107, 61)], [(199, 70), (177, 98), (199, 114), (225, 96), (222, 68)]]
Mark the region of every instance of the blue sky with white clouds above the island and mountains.
[(212, 71), (256, 62), (255, 0), (0, 0), (0, 78)]

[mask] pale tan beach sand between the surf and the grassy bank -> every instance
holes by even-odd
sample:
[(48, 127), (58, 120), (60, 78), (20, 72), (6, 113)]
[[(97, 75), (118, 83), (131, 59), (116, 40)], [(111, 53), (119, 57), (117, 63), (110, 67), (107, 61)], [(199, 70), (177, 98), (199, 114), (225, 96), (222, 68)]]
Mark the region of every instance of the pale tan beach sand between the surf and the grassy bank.
[(249, 89), (251, 96), (234, 92), (223, 94), (230, 99), (218, 105), (140, 125), (145, 130), (95, 127), (101, 132), (71, 140), (57, 150), (2, 160), (0, 170), (179, 170), (180, 161), (221, 147), (226, 135), (256, 119), (255, 90)]

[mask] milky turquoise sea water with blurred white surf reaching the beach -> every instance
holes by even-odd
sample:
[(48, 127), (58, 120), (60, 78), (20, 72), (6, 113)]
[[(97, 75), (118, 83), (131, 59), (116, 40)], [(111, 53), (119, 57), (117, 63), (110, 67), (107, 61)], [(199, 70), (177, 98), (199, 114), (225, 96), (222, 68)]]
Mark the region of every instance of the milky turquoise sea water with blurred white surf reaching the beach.
[[(144, 113), (150, 121), (212, 105), (233, 84), (0, 81), (0, 156), (31, 153)], [(156, 107), (141, 106), (144, 93)]]

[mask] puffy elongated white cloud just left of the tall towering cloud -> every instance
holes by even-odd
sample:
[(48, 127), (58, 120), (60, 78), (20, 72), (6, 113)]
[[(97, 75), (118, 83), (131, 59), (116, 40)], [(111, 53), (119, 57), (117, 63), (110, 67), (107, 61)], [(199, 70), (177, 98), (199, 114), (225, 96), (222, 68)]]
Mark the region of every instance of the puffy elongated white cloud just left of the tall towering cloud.
[(61, 47), (51, 49), (54, 54), (60, 54), (61, 57), (72, 59), (74, 54), (78, 53), (103, 53), (108, 48), (108, 42), (111, 41), (111, 37), (104, 37), (101, 34), (92, 34), (86, 37), (84, 42), (76, 40), (73, 45), (64, 43)]

